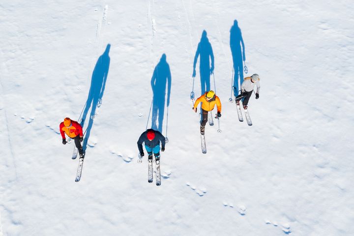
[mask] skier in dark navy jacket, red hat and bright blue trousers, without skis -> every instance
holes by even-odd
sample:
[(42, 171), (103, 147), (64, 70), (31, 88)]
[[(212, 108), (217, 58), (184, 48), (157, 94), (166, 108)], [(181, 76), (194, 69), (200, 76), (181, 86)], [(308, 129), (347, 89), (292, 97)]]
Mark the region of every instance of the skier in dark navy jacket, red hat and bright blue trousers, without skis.
[(165, 137), (157, 130), (148, 129), (140, 135), (138, 140), (138, 148), (141, 156), (144, 156), (143, 143), (148, 152), (148, 161), (152, 162), (152, 152), (156, 158), (156, 164), (160, 162), (160, 141), (161, 151), (165, 151)]

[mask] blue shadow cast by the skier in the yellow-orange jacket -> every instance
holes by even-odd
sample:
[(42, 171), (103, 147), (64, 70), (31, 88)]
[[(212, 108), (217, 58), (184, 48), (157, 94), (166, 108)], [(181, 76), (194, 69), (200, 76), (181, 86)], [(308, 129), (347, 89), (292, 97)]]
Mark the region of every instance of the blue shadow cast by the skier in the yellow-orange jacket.
[(201, 78), (201, 94), (204, 94), (206, 91), (210, 90), (210, 75), (214, 72), (214, 54), (209, 39), (207, 38), (206, 30), (203, 30), (201, 41), (198, 43), (197, 52), (194, 56), (193, 77), (196, 76), (195, 68), (198, 57), (200, 57), (199, 72)]

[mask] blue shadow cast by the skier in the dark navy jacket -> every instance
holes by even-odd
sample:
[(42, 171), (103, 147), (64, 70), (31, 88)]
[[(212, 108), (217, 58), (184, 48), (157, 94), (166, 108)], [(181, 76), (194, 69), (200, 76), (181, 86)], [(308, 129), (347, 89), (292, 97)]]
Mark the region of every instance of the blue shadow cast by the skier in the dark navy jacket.
[[(159, 63), (157, 63), (151, 78), (151, 89), (153, 93), (151, 128), (158, 130), (161, 133), (165, 112), (166, 84), (168, 85), (167, 106), (170, 106), (171, 71), (170, 66), (166, 61), (166, 54), (162, 54), (162, 57)], [(156, 123), (157, 118), (158, 125)]]

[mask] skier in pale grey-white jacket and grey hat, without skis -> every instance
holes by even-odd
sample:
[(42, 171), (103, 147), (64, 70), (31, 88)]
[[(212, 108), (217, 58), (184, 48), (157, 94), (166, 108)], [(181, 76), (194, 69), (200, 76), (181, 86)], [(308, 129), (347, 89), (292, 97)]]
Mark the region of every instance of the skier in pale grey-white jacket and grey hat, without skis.
[(258, 74), (253, 74), (251, 77), (244, 78), (241, 85), (241, 94), (238, 95), (235, 100), (236, 104), (239, 104), (239, 100), (243, 98), (242, 105), (243, 109), (247, 109), (248, 100), (250, 99), (254, 86), (257, 86), (256, 99), (259, 98), (259, 90), (261, 88), (260, 79)]

